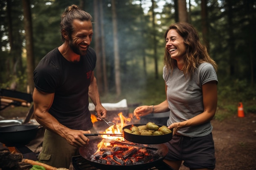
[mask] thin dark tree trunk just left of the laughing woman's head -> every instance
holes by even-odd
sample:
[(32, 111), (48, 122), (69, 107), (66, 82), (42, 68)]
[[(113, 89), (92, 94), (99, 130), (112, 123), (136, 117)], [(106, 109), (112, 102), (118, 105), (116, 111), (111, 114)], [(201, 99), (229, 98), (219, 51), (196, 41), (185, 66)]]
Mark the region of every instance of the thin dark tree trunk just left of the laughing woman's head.
[(157, 64), (157, 40), (156, 40), (156, 31), (155, 31), (155, 1), (151, 0), (152, 7), (152, 27), (153, 27), (153, 44), (154, 44), (154, 61), (155, 61), (155, 79), (158, 79), (158, 64)]

